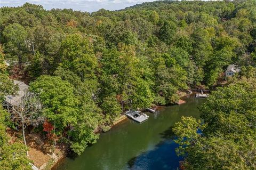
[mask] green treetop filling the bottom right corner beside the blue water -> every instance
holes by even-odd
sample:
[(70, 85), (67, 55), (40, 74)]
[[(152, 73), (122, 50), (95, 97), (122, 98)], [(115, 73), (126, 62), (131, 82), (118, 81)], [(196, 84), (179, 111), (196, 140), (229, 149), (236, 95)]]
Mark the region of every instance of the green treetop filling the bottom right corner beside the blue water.
[[(220, 137), (201, 138), (194, 147), (190, 148), (185, 167), (186, 169), (254, 169), (256, 150), (252, 145), (252, 142), (238, 145), (232, 140)], [(252, 153), (251, 156), (247, 155), (249, 152)]]

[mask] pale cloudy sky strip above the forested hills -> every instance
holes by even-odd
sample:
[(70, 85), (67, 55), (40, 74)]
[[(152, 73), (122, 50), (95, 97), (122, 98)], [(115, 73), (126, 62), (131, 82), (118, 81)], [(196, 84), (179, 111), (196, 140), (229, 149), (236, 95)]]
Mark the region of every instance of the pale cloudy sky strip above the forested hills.
[(121, 10), (143, 2), (156, 0), (0, 0), (0, 6), (21, 6), (26, 2), (43, 5), (44, 9), (73, 9), (75, 11), (94, 12), (100, 9)]

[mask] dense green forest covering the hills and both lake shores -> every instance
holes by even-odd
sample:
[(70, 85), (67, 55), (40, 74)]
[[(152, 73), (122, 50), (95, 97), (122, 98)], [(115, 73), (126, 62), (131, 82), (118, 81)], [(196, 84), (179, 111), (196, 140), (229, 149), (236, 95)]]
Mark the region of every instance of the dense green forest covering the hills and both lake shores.
[[(256, 169), (255, 0), (92, 13), (25, 3), (0, 16), (0, 101), (17, 94), (13, 79), (34, 94), (22, 116), (0, 105), (0, 167), (30, 168), (28, 148), (9, 144), (6, 127), (34, 126), (79, 155), (125, 110), (173, 104), (205, 85), (217, 91), (201, 107), (204, 124), (184, 117), (173, 128), (186, 169)], [(242, 71), (218, 87), (229, 64)]]

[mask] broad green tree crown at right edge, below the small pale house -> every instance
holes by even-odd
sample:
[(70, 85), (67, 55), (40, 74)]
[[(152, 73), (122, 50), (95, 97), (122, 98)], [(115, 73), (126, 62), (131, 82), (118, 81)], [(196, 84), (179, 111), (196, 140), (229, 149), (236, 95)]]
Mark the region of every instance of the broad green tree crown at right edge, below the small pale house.
[(205, 131), (230, 135), (235, 139), (254, 133), (253, 128), (246, 126), (253, 124), (251, 121), (256, 110), (255, 97), (253, 79), (239, 81), (214, 91), (201, 107), (201, 117), (208, 124)]

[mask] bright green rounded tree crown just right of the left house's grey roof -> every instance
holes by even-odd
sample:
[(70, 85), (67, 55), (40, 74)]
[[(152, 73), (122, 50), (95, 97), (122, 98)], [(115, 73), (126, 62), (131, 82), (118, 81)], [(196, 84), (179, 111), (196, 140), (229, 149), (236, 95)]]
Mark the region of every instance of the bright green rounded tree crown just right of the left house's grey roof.
[(76, 123), (79, 101), (74, 95), (74, 88), (60, 77), (41, 76), (30, 84), (30, 90), (38, 93), (41, 101), (48, 106), (45, 116), (56, 128), (63, 129), (68, 124)]

